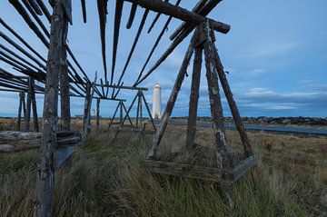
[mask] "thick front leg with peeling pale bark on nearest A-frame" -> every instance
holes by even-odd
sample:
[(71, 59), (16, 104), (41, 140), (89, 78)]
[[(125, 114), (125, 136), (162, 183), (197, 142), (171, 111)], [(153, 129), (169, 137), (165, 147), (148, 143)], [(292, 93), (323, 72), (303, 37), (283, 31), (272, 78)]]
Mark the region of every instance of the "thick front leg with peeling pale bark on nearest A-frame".
[(230, 168), (231, 159), (227, 150), (227, 140), (223, 125), (223, 106), (219, 94), (218, 77), (215, 69), (213, 40), (211, 37), (211, 29), (208, 22), (203, 27), (205, 41), (203, 43), (205, 54), (206, 77), (208, 81), (209, 99), (211, 105), (211, 113), (213, 116), (213, 131), (215, 135), (215, 153), (218, 168)]

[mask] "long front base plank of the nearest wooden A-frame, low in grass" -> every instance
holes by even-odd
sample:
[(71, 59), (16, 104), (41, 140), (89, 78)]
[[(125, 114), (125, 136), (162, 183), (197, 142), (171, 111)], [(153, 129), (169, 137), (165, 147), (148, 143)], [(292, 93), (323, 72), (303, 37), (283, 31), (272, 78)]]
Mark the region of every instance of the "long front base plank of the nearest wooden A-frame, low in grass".
[(219, 182), (228, 185), (233, 184), (233, 173), (220, 168), (150, 160), (146, 160), (144, 164), (152, 173), (183, 176), (186, 178), (206, 182)]

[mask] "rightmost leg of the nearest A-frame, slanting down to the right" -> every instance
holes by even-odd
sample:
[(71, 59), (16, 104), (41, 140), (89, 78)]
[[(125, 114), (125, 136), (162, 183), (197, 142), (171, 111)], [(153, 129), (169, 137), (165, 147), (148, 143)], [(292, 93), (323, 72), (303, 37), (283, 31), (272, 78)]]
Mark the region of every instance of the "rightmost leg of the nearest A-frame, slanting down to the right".
[(236, 125), (236, 128), (238, 130), (238, 132), (240, 133), (240, 137), (243, 143), (243, 148), (244, 148), (244, 153), (246, 156), (250, 156), (253, 154), (253, 149), (251, 147), (251, 144), (249, 142), (249, 139), (247, 137), (247, 134), (245, 132), (245, 128), (242, 122), (242, 118), (241, 115), (239, 113), (239, 110), (237, 108), (237, 105), (235, 103), (235, 101), (233, 100), (233, 93), (231, 91), (231, 88), (228, 84), (226, 75), (223, 71), (223, 64), (220, 60), (217, 48), (215, 47), (215, 44), (213, 43), (213, 52), (214, 52), (214, 57), (215, 57), (215, 64), (216, 64), (216, 68), (217, 68), (217, 72), (218, 72), (218, 76), (219, 76), (219, 80), (221, 81), (221, 84), (223, 86), (223, 92), (226, 96), (227, 102), (231, 108), (232, 114), (233, 114), (233, 120), (234, 123)]

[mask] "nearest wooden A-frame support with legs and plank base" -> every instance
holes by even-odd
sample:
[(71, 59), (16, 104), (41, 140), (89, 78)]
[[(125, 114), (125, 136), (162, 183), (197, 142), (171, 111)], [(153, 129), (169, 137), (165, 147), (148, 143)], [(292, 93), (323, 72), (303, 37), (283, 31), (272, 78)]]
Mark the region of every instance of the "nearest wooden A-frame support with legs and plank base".
[[(243, 174), (247, 173), (251, 168), (253, 168), (257, 162), (257, 159), (253, 154), (252, 147), (244, 131), (241, 116), (233, 100), (233, 94), (224, 74), (223, 65), (220, 61), (214, 41), (215, 38), (210, 21), (206, 19), (203, 24), (197, 27), (184, 56), (183, 64), (179, 74), (177, 75), (175, 84), (173, 85), (173, 91), (164, 110), (160, 126), (154, 135), (152, 147), (147, 154), (146, 166), (153, 173), (179, 175), (203, 181), (218, 182), (223, 190), (223, 198), (231, 207), (233, 207), (233, 184), (240, 179)], [(203, 167), (190, 164), (158, 161), (156, 159), (157, 148), (162, 140), (164, 130), (173, 112), (173, 105), (175, 104), (177, 95), (181, 89), (183, 78), (186, 74), (186, 68), (190, 63), (193, 53), (195, 53), (186, 137), (186, 150), (193, 150), (203, 52), (205, 56), (206, 78), (213, 120), (213, 133), (215, 136), (214, 150), (216, 167)], [(226, 95), (228, 104), (230, 105), (233, 113), (233, 120), (243, 142), (244, 159), (242, 162), (235, 164), (233, 164), (231, 159), (231, 153), (223, 125), (223, 107), (219, 93), (219, 81), (223, 86), (224, 94)]]

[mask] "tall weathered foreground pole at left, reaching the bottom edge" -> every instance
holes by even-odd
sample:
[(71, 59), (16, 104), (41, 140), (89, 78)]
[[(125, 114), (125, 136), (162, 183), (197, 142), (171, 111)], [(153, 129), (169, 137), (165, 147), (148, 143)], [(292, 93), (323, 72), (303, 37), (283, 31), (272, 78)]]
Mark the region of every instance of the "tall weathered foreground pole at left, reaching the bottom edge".
[(52, 216), (54, 197), (54, 151), (58, 123), (58, 84), (61, 64), (61, 48), (68, 31), (64, 15), (64, 0), (54, 1), (51, 17), (51, 36), (46, 64), (45, 103), (43, 113), (40, 164), (36, 177), (35, 214), (37, 217)]

